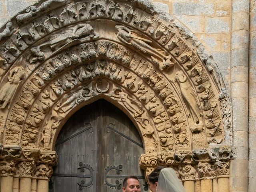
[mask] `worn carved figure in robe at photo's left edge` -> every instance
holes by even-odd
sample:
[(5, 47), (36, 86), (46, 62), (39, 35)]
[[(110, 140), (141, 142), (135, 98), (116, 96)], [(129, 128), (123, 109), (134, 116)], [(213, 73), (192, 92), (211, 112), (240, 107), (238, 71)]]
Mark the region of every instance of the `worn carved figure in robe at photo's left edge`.
[(7, 82), (4, 87), (0, 90), (0, 108), (5, 108), (6, 105), (10, 102), (18, 84), (24, 78), (25, 70), (23, 67), (15, 67), (10, 70), (10, 74), (8, 76), (9, 82)]

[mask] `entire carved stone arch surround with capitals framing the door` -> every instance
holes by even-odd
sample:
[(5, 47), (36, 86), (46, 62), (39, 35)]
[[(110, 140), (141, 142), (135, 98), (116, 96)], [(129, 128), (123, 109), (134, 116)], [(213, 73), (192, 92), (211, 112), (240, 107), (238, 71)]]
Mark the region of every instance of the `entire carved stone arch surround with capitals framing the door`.
[(30, 6), (0, 30), (2, 174), (49, 178), (67, 118), (104, 98), (138, 128), (147, 172), (166, 165), (182, 180), (228, 175), (231, 157), (220, 146), (232, 133), (232, 108), (211, 62), (136, 2)]

